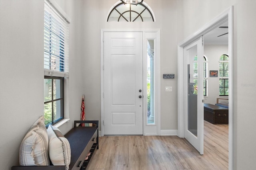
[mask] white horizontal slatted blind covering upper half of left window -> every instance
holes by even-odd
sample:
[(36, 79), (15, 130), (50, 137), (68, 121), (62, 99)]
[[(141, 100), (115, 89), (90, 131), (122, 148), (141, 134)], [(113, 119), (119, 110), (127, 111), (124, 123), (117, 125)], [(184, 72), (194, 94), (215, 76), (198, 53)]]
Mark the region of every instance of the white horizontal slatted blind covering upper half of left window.
[(68, 22), (49, 2), (44, 4), (44, 75), (68, 76)]

